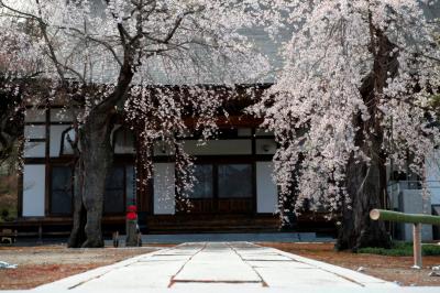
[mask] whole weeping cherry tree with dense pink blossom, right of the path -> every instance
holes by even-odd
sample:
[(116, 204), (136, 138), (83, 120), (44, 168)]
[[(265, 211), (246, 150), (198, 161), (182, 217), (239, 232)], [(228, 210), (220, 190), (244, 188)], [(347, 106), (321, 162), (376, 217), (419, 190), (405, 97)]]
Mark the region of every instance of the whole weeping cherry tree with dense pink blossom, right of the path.
[(369, 218), (386, 197), (386, 167), (409, 163), (424, 178), (439, 145), (430, 102), (438, 26), (426, 18), (436, 7), (425, 2), (274, 1), (293, 36), (283, 72), (252, 110), (280, 145), (274, 161), (284, 199), (295, 185), (293, 208), (307, 200), (339, 217), (339, 249), (389, 246), (384, 225)]

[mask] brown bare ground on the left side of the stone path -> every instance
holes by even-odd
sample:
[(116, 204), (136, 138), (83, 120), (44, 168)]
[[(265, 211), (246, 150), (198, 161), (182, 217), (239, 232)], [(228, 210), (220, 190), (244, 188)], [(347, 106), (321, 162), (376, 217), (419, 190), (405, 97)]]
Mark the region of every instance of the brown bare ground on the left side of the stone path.
[(16, 269), (0, 270), (0, 290), (32, 289), (157, 249), (161, 248), (0, 247), (0, 261), (18, 264)]

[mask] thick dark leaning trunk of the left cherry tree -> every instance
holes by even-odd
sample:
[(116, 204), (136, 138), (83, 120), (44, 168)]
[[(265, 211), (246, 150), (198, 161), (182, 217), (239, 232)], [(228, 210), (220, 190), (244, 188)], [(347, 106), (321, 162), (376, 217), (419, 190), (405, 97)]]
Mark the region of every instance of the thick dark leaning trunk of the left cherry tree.
[(102, 211), (106, 178), (113, 165), (110, 134), (113, 129), (114, 106), (124, 100), (133, 78), (131, 55), (124, 64), (114, 91), (95, 106), (79, 129), (80, 154), (78, 165), (79, 185), (75, 191), (74, 227), (70, 247), (103, 247)]

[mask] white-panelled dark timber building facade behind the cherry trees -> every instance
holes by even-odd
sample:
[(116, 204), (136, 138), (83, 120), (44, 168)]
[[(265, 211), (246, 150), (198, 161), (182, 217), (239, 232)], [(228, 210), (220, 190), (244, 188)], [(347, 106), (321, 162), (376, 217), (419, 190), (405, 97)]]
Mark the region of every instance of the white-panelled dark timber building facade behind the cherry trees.
[[(272, 180), (276, 142), (258, 129), (261, 120), (230, 117), (220, 134), (200, 143), (183, 138), (185, 151), (195, 160), (194, 191), (179, 200), (179, 176), (174, 150), (157, 142), (153, 150), (152, 177), (146, 187), (142, 166), (136, 166), (136, 138), (117, 124), (111, 134), (114, 164), (106, 182), (105, 224), (123, 226), (128, 205), (138, 205), (148, 231), (276, 230), (279, 226), (278, 193)], [(75, 154), (73, 117), (62, 105), (30, 108), (25, 116), (24, 166), (19, 196), (22, 220), (70, 223)], [(185, 202), (185, 205), (182, 203)]]

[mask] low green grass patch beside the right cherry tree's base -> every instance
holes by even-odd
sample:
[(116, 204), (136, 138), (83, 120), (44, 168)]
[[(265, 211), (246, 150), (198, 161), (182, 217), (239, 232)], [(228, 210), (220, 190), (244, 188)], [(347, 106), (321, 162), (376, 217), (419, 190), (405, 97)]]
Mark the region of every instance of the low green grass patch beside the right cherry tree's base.
[[(366, 247), (361, 248), (359, 253), (380, 254), (388, 257), (411, 257), (413, 256), (413, 243), (411, 242), (394, 242), (391, 249), (380, 247)], [(440, 256), (440, 246), (437, 245), (422, 245), (422, 256)]]

